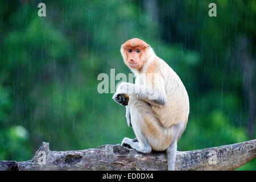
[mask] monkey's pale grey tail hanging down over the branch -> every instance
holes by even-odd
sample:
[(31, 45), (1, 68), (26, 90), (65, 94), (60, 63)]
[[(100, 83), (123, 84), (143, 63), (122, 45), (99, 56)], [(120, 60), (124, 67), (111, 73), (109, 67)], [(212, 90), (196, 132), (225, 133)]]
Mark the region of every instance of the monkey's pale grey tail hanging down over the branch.
[(166, 155), (168, 159), (168, 171), (173, 171), (175, 168), (176, 153), (177, 153), (177, 140), (172, 142), (166, 150)]

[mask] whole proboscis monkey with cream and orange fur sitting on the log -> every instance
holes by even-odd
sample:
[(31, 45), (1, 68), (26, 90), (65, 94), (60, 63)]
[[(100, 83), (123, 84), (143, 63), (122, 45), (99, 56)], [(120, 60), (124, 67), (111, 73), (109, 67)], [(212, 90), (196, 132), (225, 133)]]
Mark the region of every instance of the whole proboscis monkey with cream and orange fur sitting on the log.
[(137, 137), (136, 140), (124, 138), (122, 145), (143, 153), (166, 151), (168, 170), (174, 170), (177, 142), (189, 114), (185, 86), (143, 40), (128, 40), (122, 44), (121, 54), (136, 79), (135, 84), (119, 84), (113, 99), (126, 106), (127, 123)]

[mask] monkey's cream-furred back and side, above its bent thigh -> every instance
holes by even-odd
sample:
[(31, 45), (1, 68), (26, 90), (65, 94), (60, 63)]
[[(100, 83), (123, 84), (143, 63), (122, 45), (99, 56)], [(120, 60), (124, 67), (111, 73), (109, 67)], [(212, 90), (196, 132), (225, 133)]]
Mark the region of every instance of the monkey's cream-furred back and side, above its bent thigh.
[(159, 121), (166, 128), (177, 125), (180, 122), (188, 121), (189, 98), (187, 90), (175, 71), (162, 59), (156, 58), (159, 72), (164, 78), (166, 88), (166, 105), (152, 105), (152, 110), (156, 113)]

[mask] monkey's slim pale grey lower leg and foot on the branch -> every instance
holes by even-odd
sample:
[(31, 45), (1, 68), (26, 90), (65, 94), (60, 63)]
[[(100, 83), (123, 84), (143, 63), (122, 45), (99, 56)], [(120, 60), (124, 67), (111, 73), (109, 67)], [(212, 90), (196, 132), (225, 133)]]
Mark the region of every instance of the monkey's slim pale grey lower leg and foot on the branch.
[[(151, 152), (151, 146), (147, 141), (147, 138), (142, 133), (141, 130), (141, 122), (142, 122), (142, 115), (140, 113), (141, 109), (149, 109), (148, 104), (144, 101), (136, 101), (137, 99), (131, 99), (128, 103), (128, 107), (130, 108), (130, 118), (131, 123), (133, 125), (134, 133), (137, 137), (136, 139), (124, 138), (122, 141), (123, 146), (129, 145), (131, 148), (142, 152), (142, 153), (149, 153)], [(139, 103), (139, 104), (138, 104)], [(145, 106), (145, 107), (144, 107)], [(151, 111), (151, 110), (148, 110)], [(137, 142), (138, 141), (138, 142)]]

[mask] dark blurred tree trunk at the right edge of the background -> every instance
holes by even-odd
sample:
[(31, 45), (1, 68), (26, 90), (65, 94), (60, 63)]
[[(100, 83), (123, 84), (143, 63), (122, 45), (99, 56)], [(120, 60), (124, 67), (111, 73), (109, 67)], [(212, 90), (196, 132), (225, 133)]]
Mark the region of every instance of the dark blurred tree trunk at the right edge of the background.
[(247, 126), (250, 138), (255, 137), (255, 63), (253, 57), (249, 54), (250, 42), (246, 36), (238, 39), (237, 59), (242, 67), (243, 73), (243, 90), (248, 105), (249, 122)]

